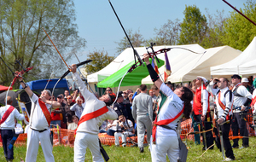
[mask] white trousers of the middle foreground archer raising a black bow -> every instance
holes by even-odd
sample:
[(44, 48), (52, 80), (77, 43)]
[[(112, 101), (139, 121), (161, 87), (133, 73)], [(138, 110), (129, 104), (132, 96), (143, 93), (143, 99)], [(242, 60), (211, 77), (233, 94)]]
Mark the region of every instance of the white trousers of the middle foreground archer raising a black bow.
[(104, 162), (100, 151), (98, 135), (86, 132), (77, 132), (74, 142), (74, 157), (75, 162), (84, 162), (86, 148), (90, 148), (93, 161)]

